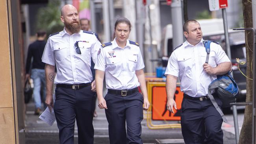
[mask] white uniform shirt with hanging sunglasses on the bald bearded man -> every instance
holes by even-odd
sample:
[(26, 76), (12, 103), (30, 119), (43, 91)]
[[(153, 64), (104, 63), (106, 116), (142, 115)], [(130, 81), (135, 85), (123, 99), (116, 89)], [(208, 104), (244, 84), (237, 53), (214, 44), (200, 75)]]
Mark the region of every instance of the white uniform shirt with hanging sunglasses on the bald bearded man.
[[(75, 42), (78, 41), (81, 54), (76, 53)], [(69, 35), (65, 31), (48, 38), (42, 57), (42, 62), (56, 65), (57, 74), (54, 83), (80, 84), (93, 80), (91, 73), (91, 58), (96, 62), (101, 43), (95, 34), (79, 33)]]

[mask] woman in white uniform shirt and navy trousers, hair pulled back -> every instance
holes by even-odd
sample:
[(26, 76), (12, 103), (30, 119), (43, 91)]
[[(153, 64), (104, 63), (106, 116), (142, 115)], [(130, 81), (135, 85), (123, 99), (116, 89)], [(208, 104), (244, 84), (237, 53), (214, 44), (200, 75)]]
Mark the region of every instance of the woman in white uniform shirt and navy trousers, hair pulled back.
[[(111, 144), (143, 144), (141, 121), (143, 109), (149, 107), (143, 72), (145, 66), (139, 44), (128, 40), (130, 30), (127, 18), (115, 22), (115, 39), (102, 44), (94, 67), (98, 107), (105, 109)], [(108, 89), (105, 98), (102, 95), (104, 75)]]

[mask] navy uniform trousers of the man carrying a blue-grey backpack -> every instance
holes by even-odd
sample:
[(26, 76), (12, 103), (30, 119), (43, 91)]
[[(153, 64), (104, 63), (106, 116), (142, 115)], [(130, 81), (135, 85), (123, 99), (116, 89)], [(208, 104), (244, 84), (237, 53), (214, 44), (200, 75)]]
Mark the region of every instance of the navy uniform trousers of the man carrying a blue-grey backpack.
[[(223, 144), (223, 119), (211, 103), (210, 98), (204, 101), (182, 100), (181, 126), (186, 144)], [(188, 96), (188, 95), (187, 95)], [(222, 102), (214, 97), (221, 107)]]

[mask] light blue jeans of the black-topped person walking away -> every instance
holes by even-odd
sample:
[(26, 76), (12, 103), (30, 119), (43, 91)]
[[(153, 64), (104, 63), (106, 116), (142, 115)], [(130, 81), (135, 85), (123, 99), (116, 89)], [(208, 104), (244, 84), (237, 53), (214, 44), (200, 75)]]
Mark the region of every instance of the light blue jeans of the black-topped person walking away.
[(42, 98), (43, 98), (43, 104), (44, 108), (46, 109), (46, 104), (45, 104), (45, 97), (46, 97), (46, 85), (45, 85), (45, 70), (44, 69), (38, 69), (38, 68), (33, 68), (31, 70), (31, 78), (33, 79), (34, 83), (34, 89), (33, 89), (33, 95), (34, 95), (34, 102), (35, 102), (35, 109), (39, 108), (41, 109), (41, 84), (42, 84)]

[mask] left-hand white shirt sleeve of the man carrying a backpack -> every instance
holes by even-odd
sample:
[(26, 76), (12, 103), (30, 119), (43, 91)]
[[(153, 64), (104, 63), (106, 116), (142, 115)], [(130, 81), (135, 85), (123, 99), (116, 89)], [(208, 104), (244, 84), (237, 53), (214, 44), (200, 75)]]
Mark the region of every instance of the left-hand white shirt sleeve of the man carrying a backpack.
[(165, 76), (167, 74), (172, 75), (172, 76), (179, 76), (180, 68), (178, 65), (177, 57), (175, 53), (173, 52), (169, 58), (166, 70), (165, 70)]

